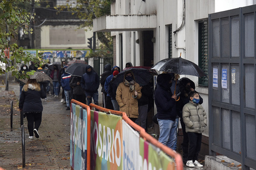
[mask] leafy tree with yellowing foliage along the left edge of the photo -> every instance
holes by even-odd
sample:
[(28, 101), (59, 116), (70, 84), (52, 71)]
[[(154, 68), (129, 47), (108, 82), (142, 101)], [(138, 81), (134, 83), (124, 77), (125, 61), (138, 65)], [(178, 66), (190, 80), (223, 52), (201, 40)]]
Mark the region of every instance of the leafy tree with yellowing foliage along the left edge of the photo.
[[(32, 34), (33, 29), (29, 29), (29, 24), (34, 20), (34, 16), (25, 9), (19, 8), (18, 3), (26, 3), (29, 0), (1, 0), (0, 2), (0, 61), (7, 65), (6, 70), (0, 68), (0, 75), (11, 72), (16, 78), (29, 77), (33, 72), (19, 74), (16, 64), (23, 62), (28, 64), (33, 61), (36, 66), (45, 64), (41, 56), (33, 56), (23, 51), (15, 42), (15, 35), (23, 28), (23, 33)], [(13, 40), (14, 41), (10, 41)], [(5, 49), (9, 49), (10, 57), (5, 56)]]

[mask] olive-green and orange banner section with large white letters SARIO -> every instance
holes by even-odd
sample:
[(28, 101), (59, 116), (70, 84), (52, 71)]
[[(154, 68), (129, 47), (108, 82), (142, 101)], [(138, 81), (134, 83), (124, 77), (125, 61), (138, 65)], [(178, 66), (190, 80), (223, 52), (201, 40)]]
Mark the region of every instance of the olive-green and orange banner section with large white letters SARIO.
[(91, 110), (91, 169), (122, 169), (121, 116)]

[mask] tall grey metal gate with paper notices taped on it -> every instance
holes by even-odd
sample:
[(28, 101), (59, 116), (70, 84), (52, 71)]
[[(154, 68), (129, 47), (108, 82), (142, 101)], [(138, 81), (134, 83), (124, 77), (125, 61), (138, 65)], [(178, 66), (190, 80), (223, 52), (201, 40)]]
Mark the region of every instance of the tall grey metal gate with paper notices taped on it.
[(256, 169), (256, 5), (209, 15), (209, 149)]

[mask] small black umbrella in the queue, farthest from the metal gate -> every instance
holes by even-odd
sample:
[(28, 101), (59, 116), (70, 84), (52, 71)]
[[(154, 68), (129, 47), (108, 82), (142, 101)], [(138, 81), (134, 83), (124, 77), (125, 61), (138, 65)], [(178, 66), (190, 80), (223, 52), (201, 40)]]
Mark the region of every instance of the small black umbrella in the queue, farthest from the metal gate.
[(82, 77), (84, 73), (86, 73), (86, 67), (88, 65), (87, 64), (83, 64), (83, 63), (74, 63), (70, 66), (68, 66), (68, 68), (66, 68), (66, 73), (69, 73), (71, 75), (76, 75), (79, 77)]

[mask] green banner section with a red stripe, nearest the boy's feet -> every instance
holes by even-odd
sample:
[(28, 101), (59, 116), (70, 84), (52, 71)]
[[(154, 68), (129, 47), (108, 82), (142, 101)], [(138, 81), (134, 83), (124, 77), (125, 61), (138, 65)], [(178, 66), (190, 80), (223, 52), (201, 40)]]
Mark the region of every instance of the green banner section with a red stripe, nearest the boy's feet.
[(138, 169), (143, 170), (164, 170), (174, 169), (173, 160), (170, 159), (160, 148), (145, 141), (143, 138), (139, 140), (140, 165)]

